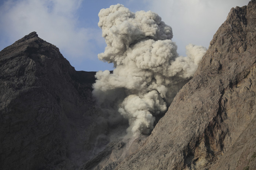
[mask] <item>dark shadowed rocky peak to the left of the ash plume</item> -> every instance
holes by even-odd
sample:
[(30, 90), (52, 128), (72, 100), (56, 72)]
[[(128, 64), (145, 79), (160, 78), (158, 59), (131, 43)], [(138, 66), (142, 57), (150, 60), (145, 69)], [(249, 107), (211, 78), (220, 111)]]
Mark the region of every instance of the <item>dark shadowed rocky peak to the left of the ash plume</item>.
[(87, 161), (94, 150), (91, 131), (97, 127), (94, 75), (75, 71), (36, 32), (4, 48), (0, 169), (74, 169)]

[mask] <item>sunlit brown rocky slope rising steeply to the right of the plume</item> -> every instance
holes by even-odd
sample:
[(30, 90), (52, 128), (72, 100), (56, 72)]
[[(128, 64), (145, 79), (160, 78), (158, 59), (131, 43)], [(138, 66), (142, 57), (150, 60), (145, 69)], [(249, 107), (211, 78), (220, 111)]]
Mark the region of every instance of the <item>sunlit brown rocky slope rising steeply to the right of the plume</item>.
[(232, 8), (193, 79), (116, 169), (256, 169), (256, 1)]

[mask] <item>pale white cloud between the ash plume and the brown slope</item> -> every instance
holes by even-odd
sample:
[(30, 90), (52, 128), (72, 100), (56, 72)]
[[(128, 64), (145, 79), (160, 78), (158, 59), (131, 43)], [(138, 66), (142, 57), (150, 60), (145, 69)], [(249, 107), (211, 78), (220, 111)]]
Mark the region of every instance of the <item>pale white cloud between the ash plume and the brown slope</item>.
[(232, 7), (247, 5), (249, 0), (150, 0), (149, 9), (158, 13), (173, 28), (173, 41), (185, 55), (189, 43), (208, 47), (214, 33)]

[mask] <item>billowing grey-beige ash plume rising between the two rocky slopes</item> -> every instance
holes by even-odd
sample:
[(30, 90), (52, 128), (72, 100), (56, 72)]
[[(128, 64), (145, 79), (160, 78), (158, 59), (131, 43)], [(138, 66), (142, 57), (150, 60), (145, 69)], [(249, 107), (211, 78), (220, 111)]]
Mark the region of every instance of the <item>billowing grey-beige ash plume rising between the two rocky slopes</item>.
[(115, 69), (97, 72), (93, 94), (102, 108), (128, 119), (128, 135), (148, 134), (155, 117), (193, 76), (206, 48), (189, 44), (187, 56), (178, 56), (172, 28), (161, 17), (120, 4), (101, 9), (98, 26), (107, 44), (98, 58)]

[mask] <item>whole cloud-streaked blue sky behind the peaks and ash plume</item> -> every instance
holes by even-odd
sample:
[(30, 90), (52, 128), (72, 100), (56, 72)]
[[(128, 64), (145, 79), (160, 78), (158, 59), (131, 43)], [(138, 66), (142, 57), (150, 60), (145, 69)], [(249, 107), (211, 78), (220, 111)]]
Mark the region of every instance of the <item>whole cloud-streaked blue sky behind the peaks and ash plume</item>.
[[(139, 2), (138, 2), (139, 1)], [(178, 53), (189, 43), (208, 48), (212, 36), (232, 7), (249, 0), (1, 0), (0, 50), (36, 31), (60, 49), (76, 70), (113, 70), (99, 61), (106, 46), (98, 27), (98, 12), (117, 3), (130, 11), (153, 11), (173, 28)]]

